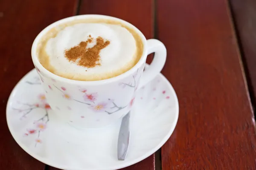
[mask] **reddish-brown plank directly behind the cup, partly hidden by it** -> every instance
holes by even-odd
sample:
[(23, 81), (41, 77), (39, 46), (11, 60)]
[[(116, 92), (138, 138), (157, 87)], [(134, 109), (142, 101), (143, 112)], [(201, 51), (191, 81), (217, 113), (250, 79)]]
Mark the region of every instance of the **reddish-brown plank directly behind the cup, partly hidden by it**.
[[(154, 37), (153, 0), (82, 0), (79, 14), (103, 14), (126, 20), (142, 31), (147, 39)], [(150, 62), (150, 61), (149, 61)], [(50, 170), (57, 170), (50, 167)], [(123, 170), (154, 170), (154, 154)]]

